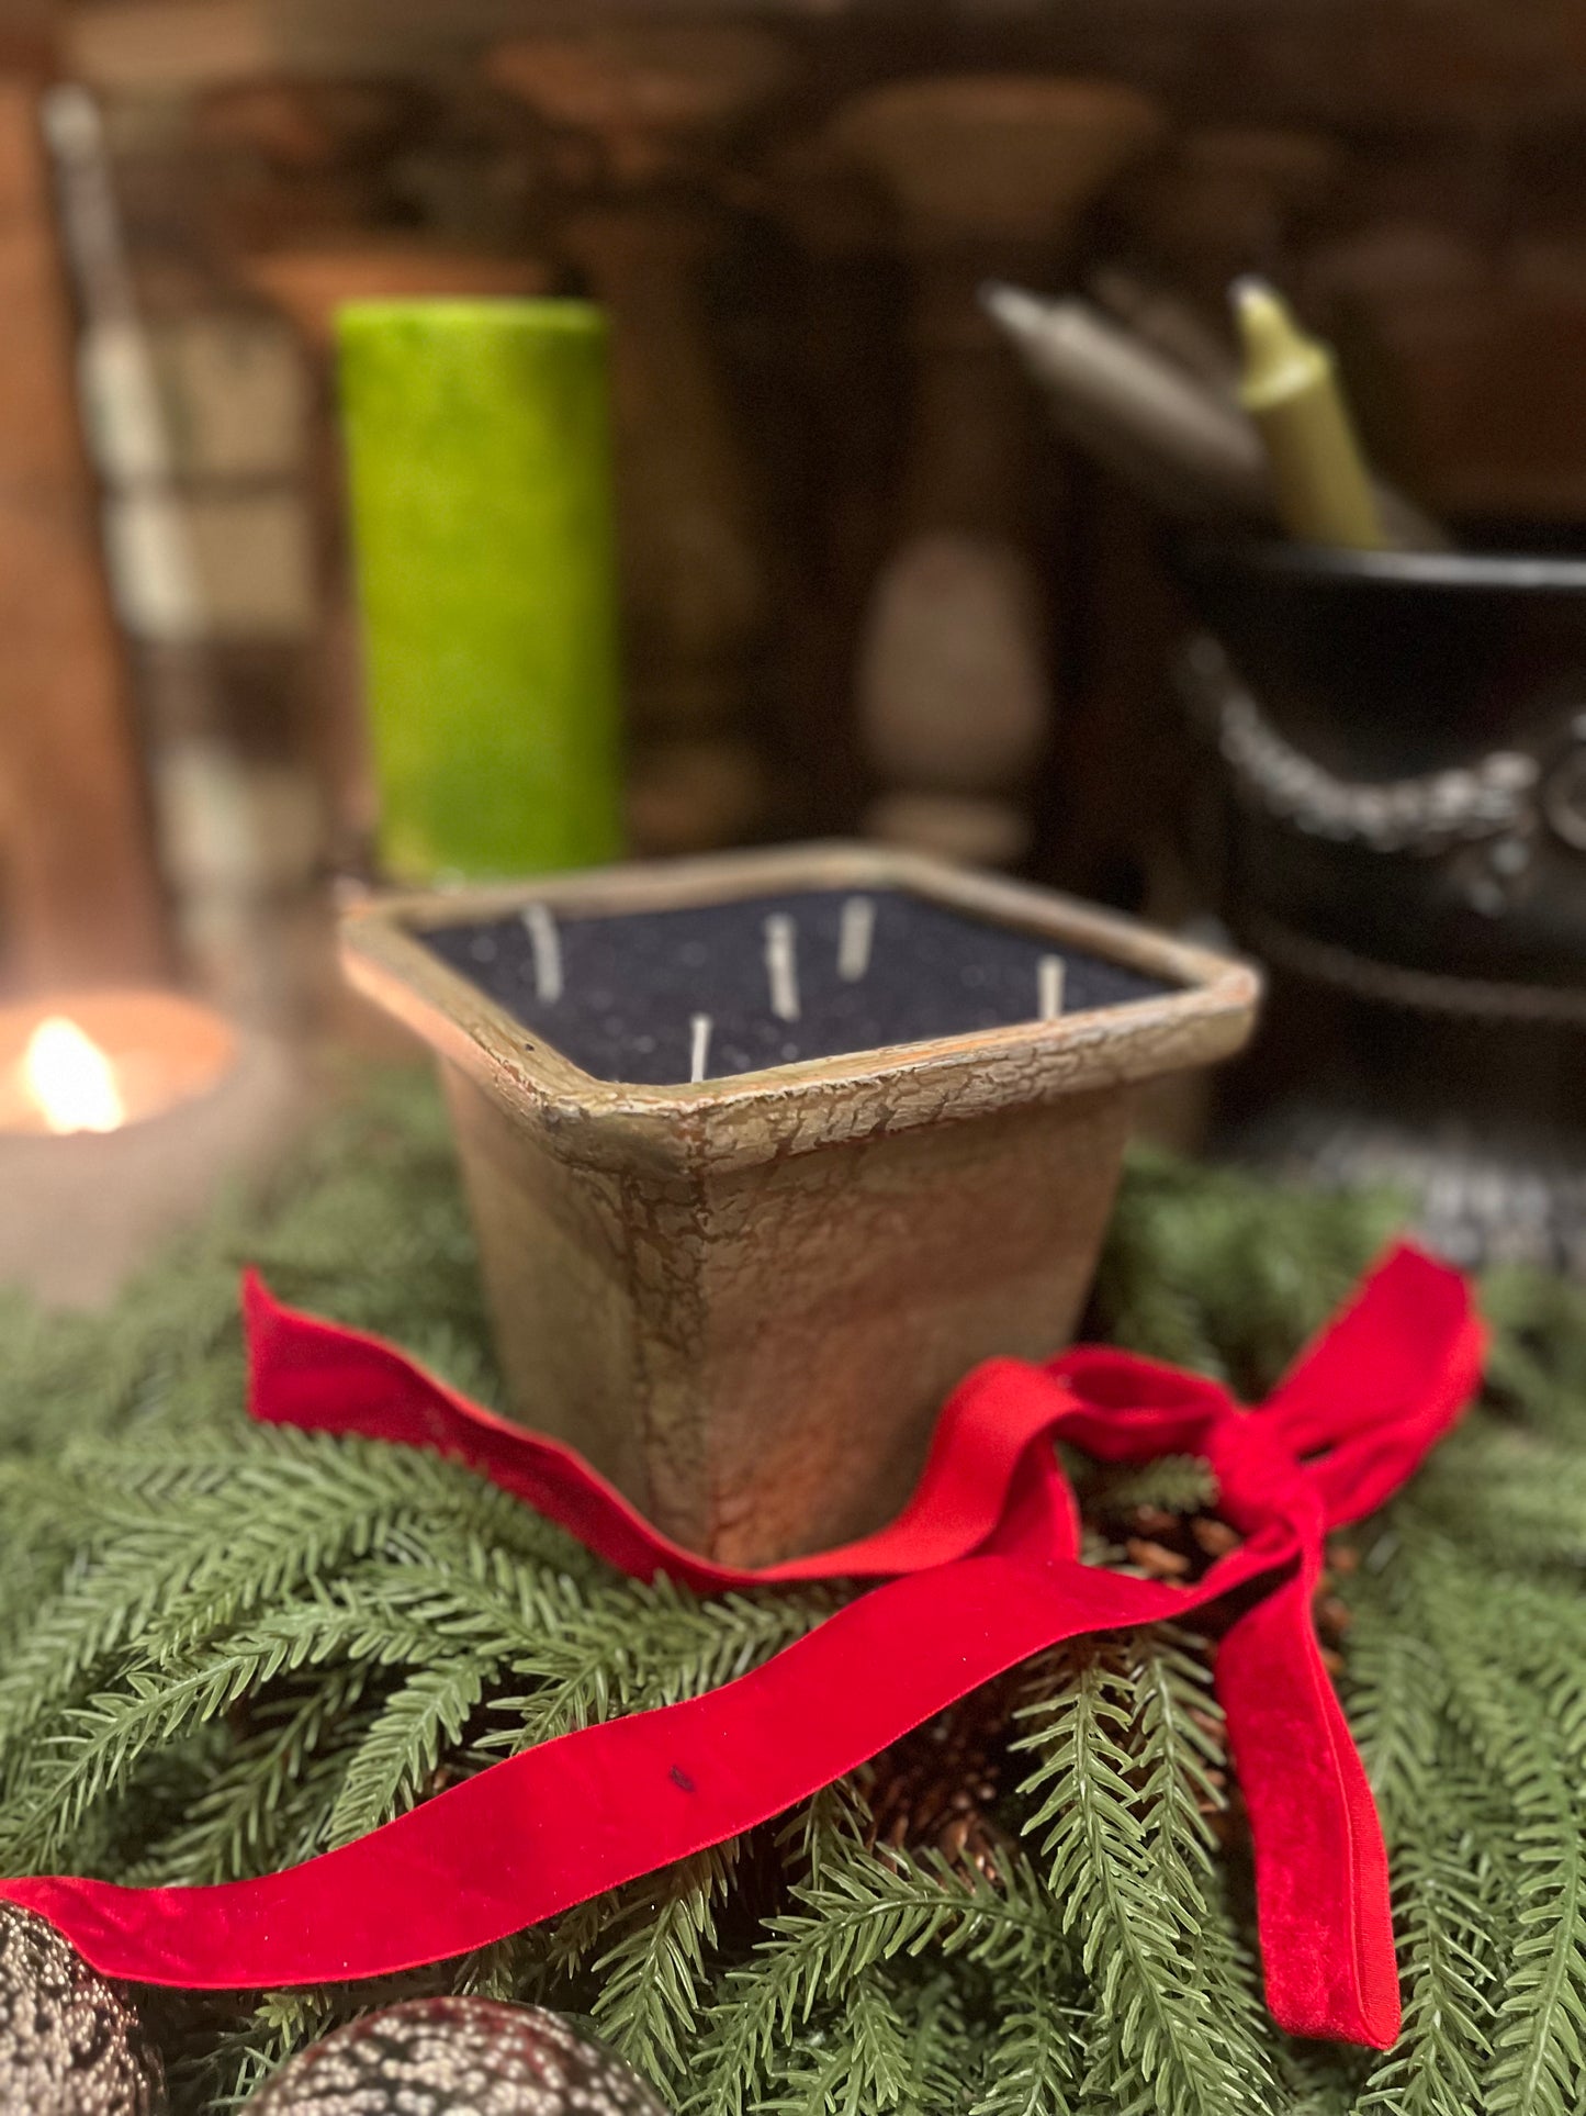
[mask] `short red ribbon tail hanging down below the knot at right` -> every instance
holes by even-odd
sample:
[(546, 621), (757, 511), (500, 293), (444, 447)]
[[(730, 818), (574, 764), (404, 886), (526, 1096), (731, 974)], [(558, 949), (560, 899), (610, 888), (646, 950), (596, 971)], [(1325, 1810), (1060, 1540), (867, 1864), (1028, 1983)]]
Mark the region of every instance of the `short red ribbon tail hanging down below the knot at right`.
[(1290, 2036), (1387, 2050), (1400, 1993), (1387, 1847), (1322, 1665), (1303, 1566), (1222, 1638), (1216, 1686), (1250, 1816), (1267, 2004)]

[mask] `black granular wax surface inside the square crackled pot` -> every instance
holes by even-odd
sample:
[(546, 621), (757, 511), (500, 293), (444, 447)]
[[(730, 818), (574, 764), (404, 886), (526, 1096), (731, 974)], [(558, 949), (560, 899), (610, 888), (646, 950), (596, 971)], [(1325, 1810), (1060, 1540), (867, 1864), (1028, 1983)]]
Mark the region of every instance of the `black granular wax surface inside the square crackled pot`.
[(1167, 990), (899, 889), (556, 918), (527, 906), (423, 937), (584, 1073), (656, 1088), (1034, 1022), (1053, 956), (1064, 1014)]

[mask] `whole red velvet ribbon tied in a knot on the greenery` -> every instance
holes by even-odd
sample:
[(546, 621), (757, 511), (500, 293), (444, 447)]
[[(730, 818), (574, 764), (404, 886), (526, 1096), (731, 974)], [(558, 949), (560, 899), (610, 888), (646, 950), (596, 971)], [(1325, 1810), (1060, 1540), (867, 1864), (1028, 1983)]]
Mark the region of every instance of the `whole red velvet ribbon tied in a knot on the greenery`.
[[(0, 1883), (106, 1974), (250, 1989), (438, 1962), (787, 1811), (1059, 1640), (1224, 1602), (1216, 1686), (1250, 1813), (1267, 2002), (1298, 2036), (1398, 2036), (1387, 1854), (1311, 1598), (1328, 1530), (1381, 1507), (1476, 1390), (1484, 1331), (1459, 1274), (1394, 1251), (1258, 1411), (1106, 1348), (992, 1361), (954, 1392), (888, 1528), (761, 1572), (668, 1543), (571, 1449), (391, 1346), (277, 1306), (254, 1276), (243, 1306), (254, 1418), (436, 1447), (637, 1579), (702, 1593), (884, 1585), (719, 1691), (524, 1750), (285, 1873)], [(1195, 1585), (1081, 1564), (1057, 1437), (1110, 1462), (1205, 1456), (1243, 1545)]]

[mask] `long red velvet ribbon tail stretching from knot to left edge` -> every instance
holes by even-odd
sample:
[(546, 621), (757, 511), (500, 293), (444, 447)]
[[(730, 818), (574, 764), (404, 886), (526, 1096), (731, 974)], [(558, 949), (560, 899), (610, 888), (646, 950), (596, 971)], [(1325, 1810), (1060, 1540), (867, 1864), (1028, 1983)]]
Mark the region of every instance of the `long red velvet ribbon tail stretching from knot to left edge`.
[(30, 1877), (0, 1881), (0, 1898), (135, 1983), (393, 1974), (770, 1822), (1064, 1638), (1176, 1617), (1216, 1591), (971, 1557), (861, 1595), (719, 1691), (524, 1750), (302, 1866), (209, 1887)]

